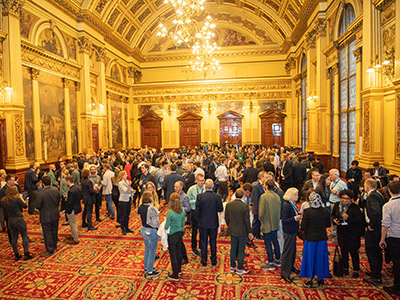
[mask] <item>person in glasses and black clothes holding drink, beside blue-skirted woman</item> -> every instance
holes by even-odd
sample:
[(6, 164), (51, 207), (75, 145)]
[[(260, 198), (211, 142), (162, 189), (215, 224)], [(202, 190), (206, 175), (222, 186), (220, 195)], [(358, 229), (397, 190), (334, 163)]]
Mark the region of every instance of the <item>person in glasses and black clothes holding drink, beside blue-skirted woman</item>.
[(353, 191), (345, 189), (339, 192), (340, 202), (332, 209), (331, 218), (337, 225), (337, 237), (342, 253), (342, 266), (344, 275), (349, 275), (349, 253), (353, 262), (353, 278), (358, 278), (360, 273), (361, 233), (363, 230), (363, 217), (361, 210), (353, 199)]

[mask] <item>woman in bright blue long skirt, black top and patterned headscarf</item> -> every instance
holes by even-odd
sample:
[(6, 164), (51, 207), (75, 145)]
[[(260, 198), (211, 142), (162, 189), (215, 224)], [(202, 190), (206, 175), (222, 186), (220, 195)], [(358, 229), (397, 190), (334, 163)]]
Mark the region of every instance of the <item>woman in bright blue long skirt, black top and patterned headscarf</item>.
[(328, 236), (326, 228), (331, 227), (330, 214), (322, 202), (321, 196), (315, 191), (307, 195), (310, 207), (303, 212), (301, 230), (304, 238), (303, 259), (300, 277), (308, 277), (305, 287), (313, 286), (314, 276), (317, 276), (318, 286), (329, 278)]

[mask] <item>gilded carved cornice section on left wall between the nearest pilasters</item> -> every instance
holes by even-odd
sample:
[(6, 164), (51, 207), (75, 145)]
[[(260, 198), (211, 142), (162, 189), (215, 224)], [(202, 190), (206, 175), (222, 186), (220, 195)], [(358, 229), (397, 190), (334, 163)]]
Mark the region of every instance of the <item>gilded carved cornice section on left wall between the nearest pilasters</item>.
[(38, 70), (51, 70), (62, 77), (79, 80), (81, 66), (65, 58), (45, 52), (42, 48), (21, 41), (22, 64)]

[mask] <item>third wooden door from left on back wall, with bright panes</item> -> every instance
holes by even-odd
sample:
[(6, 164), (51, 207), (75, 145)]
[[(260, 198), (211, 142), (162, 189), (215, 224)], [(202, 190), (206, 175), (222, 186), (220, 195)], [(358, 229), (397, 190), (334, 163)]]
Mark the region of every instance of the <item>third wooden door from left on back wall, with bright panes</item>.
[(230, 110), (219, 115), (218, 119), (220, 145), (224, 143), (241, 145), (243, 115)]

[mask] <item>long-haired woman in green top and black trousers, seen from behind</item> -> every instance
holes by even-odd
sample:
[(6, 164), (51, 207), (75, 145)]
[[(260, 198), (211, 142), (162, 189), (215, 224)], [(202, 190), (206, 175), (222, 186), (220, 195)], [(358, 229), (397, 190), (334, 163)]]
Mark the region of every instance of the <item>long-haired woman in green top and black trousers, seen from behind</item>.
[(165, 230), (168, 233), (168, 249), (172, 265), (171, 280), (179, 280), (179, 273), (182, 271), (182, 247), (183, 227), (185, 226), (185, 210), (181, 205), (181, 197), (178, 193), (172, 193), (169, 200), (169, 211), (165, 221)]

